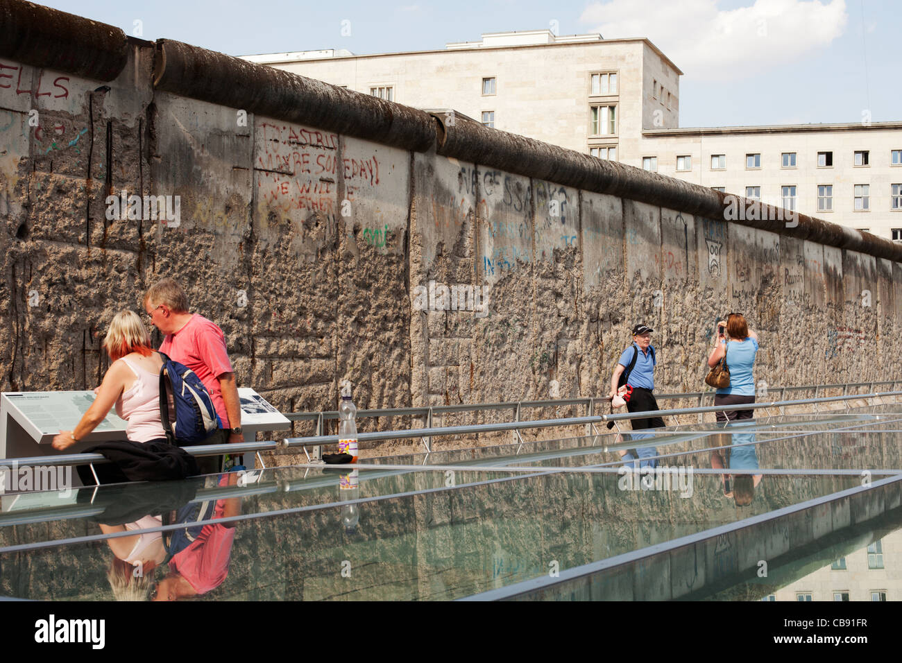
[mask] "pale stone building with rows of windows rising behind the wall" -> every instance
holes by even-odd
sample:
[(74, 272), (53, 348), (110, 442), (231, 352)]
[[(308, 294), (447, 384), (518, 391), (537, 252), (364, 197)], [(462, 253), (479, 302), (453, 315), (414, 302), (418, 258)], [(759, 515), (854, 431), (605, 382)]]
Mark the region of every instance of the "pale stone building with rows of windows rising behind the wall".
[(647, 39), (533, 30), (244, 59), (902, 240), (902, 122), (679, 128), (683, 72)]

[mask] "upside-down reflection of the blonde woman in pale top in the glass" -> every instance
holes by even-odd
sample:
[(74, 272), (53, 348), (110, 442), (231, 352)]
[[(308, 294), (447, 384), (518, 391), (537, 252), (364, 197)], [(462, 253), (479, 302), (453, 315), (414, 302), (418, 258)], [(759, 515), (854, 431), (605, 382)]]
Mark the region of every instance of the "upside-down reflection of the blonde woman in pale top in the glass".
[[(104, 534), (110, 534), (150, 529), (160, 527), (161, 524), (160, 516), (144, 516), (141, 520), (124, 525), (101, 523), (100, 530)], [(106, 539), (106, 543), (114, 555), (113, 563), (106, 572), (106, 579), (109, 580), (116, 601), (147, 601), (152, 589), (153, 569), (166, 559), (162, 532)]]

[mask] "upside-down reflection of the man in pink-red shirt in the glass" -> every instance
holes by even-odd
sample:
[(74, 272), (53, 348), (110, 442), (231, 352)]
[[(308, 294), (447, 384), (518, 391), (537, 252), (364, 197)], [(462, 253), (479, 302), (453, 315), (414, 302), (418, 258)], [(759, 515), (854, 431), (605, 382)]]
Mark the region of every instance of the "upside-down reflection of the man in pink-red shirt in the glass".
[[(219, 485), (236, 485), (238, 474), (224, 474)], [(213, 518), (241, 513), (241, 501), (233, 497), (217, 500)], [(170, 572), (157, 584), (154, 601), (176, 601), (216, 589), (228, 576), (228, 563), (235, 542), (235, 522), (204, 525), (188, 548), (170, 559)]]

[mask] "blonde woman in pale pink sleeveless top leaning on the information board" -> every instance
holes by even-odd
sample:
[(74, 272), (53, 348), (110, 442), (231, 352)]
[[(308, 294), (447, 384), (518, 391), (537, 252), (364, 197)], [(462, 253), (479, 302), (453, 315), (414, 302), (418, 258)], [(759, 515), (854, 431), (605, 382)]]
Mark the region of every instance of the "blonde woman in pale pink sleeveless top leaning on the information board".
[(128, 421), (125, 436), (132, 442), (166, 442), (160, 420), (160, 353), (151, 347), (151, 337), (141, 318), (133, 311), (115, 315), (106, 332), (104, 347), (113, 361), (97, 398), (72, 430), (60, 430), (53, 448), (66, 449), (85, 437), (106, 418), (115, 403), (115, 411)]

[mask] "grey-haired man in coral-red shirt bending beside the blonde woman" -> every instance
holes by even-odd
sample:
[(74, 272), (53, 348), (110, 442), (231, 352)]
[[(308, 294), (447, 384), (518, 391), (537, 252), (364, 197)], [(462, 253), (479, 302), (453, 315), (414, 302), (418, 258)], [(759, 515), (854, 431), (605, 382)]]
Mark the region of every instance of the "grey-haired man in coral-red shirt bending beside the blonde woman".
[(160, 352), (197, 373), (210, 392), (223, 428), (208, 437), (205, 444), (244, 442), (241, 401), (223, 330), (200, 314), (189, 313), (188, 297), (173, 279), (163, 279), (147, 290), (144, 311), (152, 325), (165, 335)]

